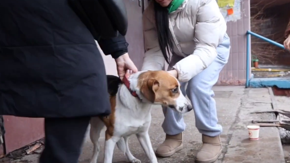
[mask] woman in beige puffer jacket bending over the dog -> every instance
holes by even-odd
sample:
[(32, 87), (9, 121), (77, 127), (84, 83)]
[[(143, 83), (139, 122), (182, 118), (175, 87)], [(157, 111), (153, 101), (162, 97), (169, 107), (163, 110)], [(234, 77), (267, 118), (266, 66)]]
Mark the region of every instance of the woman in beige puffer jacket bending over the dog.
[[(230, 54), (226, 21), (216, 0), (151, 1), (143, 14), (146, 53), (142, 70), (161, 70), (165, 61), (169, 63), (168, 72), (182, 82), (182, 93), (193, 104), (195, 126), (202, 134), (203, 146), (196, 162), (212, 163), (222, 147), (222, 126), (217, 124), (211, 88)], [(182, 149), (185, 123), (172, 109), (163, 108), (163, 113), (166, 139), (156, 155), (169, 157)]]

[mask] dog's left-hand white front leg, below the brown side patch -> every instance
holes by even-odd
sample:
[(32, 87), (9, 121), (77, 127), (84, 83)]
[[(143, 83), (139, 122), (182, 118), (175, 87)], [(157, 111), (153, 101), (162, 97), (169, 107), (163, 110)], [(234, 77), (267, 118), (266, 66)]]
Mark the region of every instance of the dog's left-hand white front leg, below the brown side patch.
[(105, 141), (104, 163), (112, 163), (114, 148), (116, 143), (120, 140), (119, 137), (111, 137)]

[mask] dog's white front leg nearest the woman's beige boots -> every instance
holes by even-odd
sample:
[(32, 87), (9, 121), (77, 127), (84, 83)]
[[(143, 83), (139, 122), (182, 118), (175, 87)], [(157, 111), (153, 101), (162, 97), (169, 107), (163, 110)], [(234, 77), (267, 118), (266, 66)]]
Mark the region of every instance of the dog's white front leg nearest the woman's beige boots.
[(150, 159), (150, 162), (151, 163), (158, 163), (156, 155), (155, 155), (153, 148), (152, 148), (152, 144), (150, 141), (148, 131), (143, 132), (143, 133), (138, 133), (137, 138), (138, 138), (144, 152), (146, 153), (147, 157)]

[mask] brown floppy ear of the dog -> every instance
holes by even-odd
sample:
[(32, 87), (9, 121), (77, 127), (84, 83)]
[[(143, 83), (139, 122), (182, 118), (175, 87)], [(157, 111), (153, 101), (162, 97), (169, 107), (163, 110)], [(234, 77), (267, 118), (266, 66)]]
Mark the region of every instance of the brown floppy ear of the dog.
[(147, 80), (147, 83), (144, 83), (141, 87), (141, 93), (144, 97), (147, 98), (150, 102), (154, 103), (155, 101), (155, 93), (159, 89), (159, 82), (154, 79), (150, 78)]

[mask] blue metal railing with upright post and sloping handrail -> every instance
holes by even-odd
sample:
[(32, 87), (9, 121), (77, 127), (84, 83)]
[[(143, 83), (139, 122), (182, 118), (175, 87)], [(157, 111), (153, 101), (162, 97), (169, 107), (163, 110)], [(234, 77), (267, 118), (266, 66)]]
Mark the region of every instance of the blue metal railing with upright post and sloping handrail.
[(270, 43), (270, 44), (273, 44), (273, 45), (275, 45), (275, 46), (278, 46), (279, 48), (282, 48), (282, 49), (285, 49), (285, 47), (282, 45), (282, 44), (280, 44), (280, 43), (277, 43), (277, 42), (275, 42), (275, 41), (273, 41), (273, 40), (270, 40), (270, 39), (268, 39), (268, 38), (266, 38), (266, 37), (263, 37), (263, 36), (261, 36), (261, 35), (259, 35), (259, 34), (256, 34), (256, 33), (254, 33), (254, 32), (251, 32), (250, 30), (248, 30), (247, 31), (247, 64), (246, 64), (246, 66), (247, 66), (247, 69), (246, 69), (246, 88), (249, 88), (249, 81), (250, 81), (250, 52), (251, 52), (251, 41), (250, 41), (250, 39), (251, 39), (251, 35), (252, 36), (255, 36), (255, 37), (257, 37), (257, 38), (259, 38), (259, 39), (261, 39), (261, 40), (264, 40), (264, 41), (266, 41), (266, 42), (268, 42), (268, 43)]

